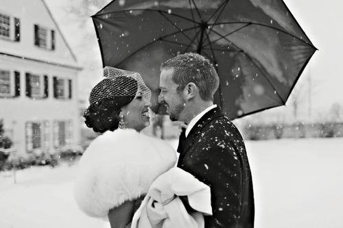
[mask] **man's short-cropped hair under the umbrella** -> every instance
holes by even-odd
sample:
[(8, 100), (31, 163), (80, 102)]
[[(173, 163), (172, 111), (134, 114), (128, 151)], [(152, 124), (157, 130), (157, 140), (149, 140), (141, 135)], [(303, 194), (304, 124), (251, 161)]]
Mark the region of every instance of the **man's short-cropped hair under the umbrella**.
[(189, 82), (198, 86), (200, 97), (204, 101), (213, 101), (213, 95), (219, 86), (219, 77), (215, 68), (204, 56), (196, 53), (177, 55), (161, 64), (161, 70), (174, 68), (171, 79), (178, 84), (178, 92)]

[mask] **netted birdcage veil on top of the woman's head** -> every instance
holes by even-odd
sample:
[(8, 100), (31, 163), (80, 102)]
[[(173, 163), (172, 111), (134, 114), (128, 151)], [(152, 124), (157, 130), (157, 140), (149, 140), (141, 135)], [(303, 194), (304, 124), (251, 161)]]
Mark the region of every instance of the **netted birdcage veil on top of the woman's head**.
[(142, 97), (150, 100), (151, 90), (141, 75), (133, 71), (125, 71), (111, 66), (104, 67), (104, 77), (91, 91), (89, 103), (93, 104), (105, 98), (136, 96), (141, 92)]

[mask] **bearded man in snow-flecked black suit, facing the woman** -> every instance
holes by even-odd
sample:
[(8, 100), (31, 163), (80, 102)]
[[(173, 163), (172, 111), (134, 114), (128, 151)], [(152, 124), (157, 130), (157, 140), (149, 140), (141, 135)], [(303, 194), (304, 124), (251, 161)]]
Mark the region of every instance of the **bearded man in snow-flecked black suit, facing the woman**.
[[(160, 103), (171, 121), (183, 121), (178, 167), (211, 188), (213, 216), (205, 227), (254, 227), (254, 196), (241, 134), (217, 105), (219, 77), (209, 60), (185, 53), (161, 65)], [(187, 202), (186, 202), (187, 204)]]

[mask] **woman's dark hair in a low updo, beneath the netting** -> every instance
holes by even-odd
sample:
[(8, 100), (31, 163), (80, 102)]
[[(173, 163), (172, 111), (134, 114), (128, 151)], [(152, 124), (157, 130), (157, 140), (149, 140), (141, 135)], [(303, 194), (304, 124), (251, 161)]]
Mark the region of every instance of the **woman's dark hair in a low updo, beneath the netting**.
[[(132, 77), (116, 77), (114, 79), (103, 79), (91, 91), (90, 101), (94, 97), (98, 98), (91, 103), (84, 111), (87, 127), (93, 128), (93, 131), (103, 133), (105, 131), (114, 131), (118, 128), (120, 121), (121, 107), (127, 105), (134, 99), (134, 95), (128, 95), (126, 88), (137, 91), (138, 84)], [(118, 94), (123, 94), (118, 96)], [(114, 95), (116, 94), (116, 95)]]

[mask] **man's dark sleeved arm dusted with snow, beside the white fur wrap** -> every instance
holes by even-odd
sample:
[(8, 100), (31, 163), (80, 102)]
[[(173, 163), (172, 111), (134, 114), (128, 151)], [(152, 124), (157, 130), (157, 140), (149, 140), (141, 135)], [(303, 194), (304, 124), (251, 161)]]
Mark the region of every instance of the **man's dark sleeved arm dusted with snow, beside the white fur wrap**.
[(240, 215), (241, 164), (237, 145), (220, 129), (207, 131), (196, 147), (188, 168), (197, 179), (211, 188), (213, 216), (206, 227), (232, 227)]

